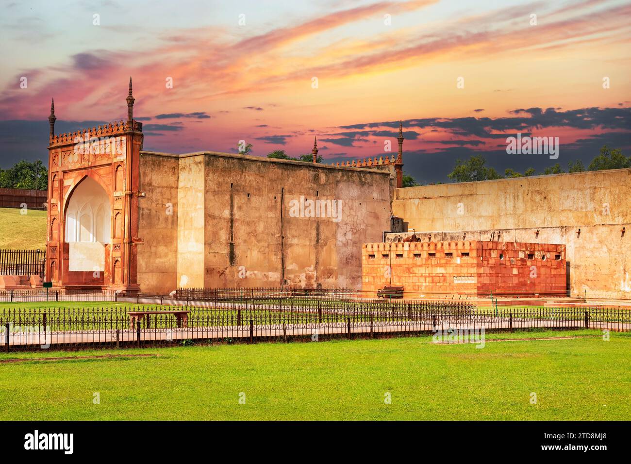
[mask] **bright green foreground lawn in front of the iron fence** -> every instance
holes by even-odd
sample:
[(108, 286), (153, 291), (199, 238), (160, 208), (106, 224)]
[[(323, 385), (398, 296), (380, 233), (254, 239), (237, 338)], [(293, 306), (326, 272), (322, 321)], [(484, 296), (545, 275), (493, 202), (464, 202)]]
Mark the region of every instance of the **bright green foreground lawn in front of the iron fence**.
[[(575, 338), (491, 341), (558, 336)], [(631, 335), (611, 333), (605, 342), (598, 331), (530, 331), (486, 339), (481, 349), (414, 337), (1, 354), (0, 360), (28, 361), (0, 364), (0, 414), (4, 420), (631, 419)], [(36, 360), (103, 354), (155, 356)], [(95, 393), (100, 404), (93, 403)]]

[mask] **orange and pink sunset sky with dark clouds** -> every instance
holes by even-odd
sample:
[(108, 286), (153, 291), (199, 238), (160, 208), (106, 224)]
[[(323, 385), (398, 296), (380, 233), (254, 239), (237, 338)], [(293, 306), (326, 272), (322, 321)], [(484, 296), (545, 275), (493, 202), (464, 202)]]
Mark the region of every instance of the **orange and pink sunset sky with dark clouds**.
[[(476, 154), (502, 173), (587, 164), (604, 143), (631, 155), (628, 1), (1, 8), (1, 167), (46, 159), (51, 97), (57, 133), (126, 117), (129, 76), (146, 150), (235, 152), (245, 140), (254, 155), (298, 156), (317, 135), (325, 162), (352, 160), (391, 154), (385, 140), (396, 152), (403, 120), (404, 169), (423, 183)], [(517, 132), (558, 136), (558, 160), (507, 155)]]

